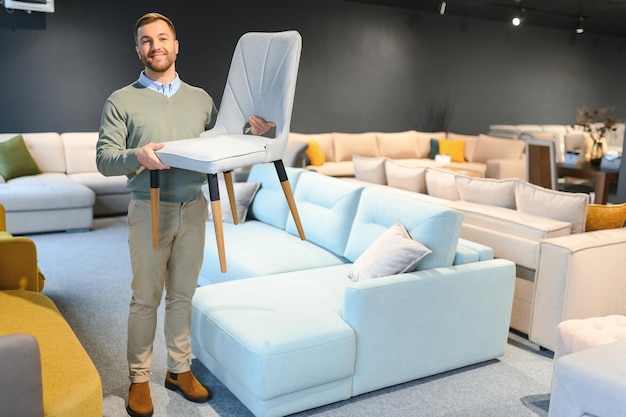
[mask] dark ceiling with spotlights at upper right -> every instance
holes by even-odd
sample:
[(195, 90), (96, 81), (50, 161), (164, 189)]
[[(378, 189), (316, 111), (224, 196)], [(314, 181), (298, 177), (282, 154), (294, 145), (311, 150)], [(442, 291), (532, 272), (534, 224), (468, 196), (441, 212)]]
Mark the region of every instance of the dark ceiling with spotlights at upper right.
[[(441, 0), (351, 0), (439, 13)], [(446, 0), (445, 14), (510, 22), (523, 8), (523, 25), (626, 38), (626, 0)], [(584, 35), (584, 34), (583, 34)]]

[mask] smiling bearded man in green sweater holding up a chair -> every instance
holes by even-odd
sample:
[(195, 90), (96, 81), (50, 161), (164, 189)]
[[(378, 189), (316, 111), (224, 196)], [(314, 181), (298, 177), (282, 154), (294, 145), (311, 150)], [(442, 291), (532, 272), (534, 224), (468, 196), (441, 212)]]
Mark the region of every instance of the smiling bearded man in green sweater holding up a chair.
[[(155, 150), (162, 142), (197, 137), (213, 127), (217, 109), (202, 89), (181, 81), (175, 70), (179, 44), (167, 17), (148, 13), (135, 24), (135, 50), (144, 64), (139, 80), (107, 100), (100, 126), (96, 162), (104, 175), (126, 175), (133, 280), (128, 318), (130, 388), (126, 410), (150, 417), (154, 408), (149, 381), (157, 308), (163, 289), (167, 368), (165, 387), (188, 400), (205, 402), (210, 392), (191, 372), (191, 299), (204, 248), (207, 201), (201, 191), (206, 175), (171, 168)], [(273, 123), (251, 116), (250, 131), (263, 134)], [(244, 127), (242, 126), (242, 129)], [(159, 249), (151, 243), (150, 170), (160, 173)]]

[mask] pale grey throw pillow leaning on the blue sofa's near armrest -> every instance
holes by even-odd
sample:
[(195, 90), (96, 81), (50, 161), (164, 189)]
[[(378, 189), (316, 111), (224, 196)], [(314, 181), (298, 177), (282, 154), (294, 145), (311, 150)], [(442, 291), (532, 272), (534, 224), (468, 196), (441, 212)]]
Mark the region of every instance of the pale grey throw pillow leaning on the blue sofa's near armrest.
[(396, 223), (354, 261), (348, 277), (356, 282), (412, 272), (431, 252), (413, 240), (401, 223)]

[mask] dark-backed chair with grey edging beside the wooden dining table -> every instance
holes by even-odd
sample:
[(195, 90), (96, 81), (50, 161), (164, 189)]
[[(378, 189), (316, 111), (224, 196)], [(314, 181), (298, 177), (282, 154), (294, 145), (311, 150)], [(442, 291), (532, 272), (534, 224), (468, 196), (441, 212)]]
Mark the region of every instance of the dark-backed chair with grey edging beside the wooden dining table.
[(591, 194), (591, 183), (560, 182), (557, 176), (555, 143), (545, 139), (526, 139), (526, 181), (552, 190)]

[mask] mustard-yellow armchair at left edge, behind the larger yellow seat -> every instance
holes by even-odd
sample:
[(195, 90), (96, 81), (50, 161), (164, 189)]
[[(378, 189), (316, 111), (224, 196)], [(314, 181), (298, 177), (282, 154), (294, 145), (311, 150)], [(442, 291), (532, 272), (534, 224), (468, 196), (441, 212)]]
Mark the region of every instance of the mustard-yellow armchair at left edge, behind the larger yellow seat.
[(0, 290), (41, 291), (44, 280), (37, 266), (35, 242), (6, 231), (4, 206), (0, 204)]

